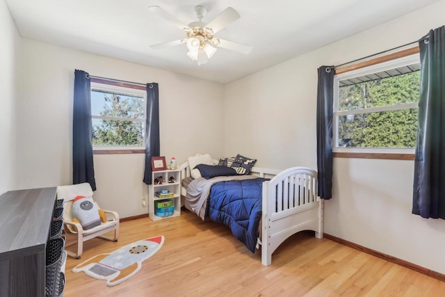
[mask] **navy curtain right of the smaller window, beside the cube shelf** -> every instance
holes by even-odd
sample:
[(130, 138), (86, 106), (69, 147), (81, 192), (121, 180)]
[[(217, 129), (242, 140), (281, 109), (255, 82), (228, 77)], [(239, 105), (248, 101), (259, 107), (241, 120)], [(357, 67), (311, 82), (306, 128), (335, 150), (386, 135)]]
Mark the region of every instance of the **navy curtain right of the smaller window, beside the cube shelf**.
[(159, 86), (147, 83), (147, 122), (145, 125), (145, 184), (152, 184), (152, 156), (159, 156)]

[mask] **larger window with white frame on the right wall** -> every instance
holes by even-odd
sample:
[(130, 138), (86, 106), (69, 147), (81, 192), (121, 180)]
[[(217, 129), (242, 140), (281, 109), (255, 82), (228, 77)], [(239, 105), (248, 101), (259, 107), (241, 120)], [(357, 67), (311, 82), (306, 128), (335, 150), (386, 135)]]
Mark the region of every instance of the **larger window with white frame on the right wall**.
[(419, 70), (415, 54), (336, 75), (334, 152), (413, 151)]

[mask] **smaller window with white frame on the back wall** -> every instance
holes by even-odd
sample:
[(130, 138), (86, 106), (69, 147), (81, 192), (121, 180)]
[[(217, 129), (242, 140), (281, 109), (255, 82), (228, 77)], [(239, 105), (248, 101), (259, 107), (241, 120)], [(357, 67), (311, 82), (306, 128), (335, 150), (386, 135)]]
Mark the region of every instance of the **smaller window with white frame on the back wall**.
[(91, 83), (92, 145), (95, 150), (145, 147), (145, 88)]

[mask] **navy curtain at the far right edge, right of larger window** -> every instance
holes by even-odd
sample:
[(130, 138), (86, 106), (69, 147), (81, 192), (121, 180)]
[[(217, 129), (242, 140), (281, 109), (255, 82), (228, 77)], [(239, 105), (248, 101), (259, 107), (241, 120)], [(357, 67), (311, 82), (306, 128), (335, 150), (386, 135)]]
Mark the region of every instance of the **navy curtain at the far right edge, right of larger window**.
[(419, 40), (420, 98), (412, 213), (445, 219), (445, 26)]

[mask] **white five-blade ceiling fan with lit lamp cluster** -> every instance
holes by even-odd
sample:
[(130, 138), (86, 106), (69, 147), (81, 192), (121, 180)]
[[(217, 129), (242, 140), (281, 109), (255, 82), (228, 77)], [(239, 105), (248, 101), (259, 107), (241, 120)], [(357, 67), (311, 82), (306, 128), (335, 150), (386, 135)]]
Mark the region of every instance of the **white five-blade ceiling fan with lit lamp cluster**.
[(207, 63), (207, 60), (215, 54), (217, 47), (238, 51), (242, 54), (250, 54), (252, 51), (250, 45), (242, 45), (241, 43), (214, 37), (215, 33), (218, 33), (218, 31), (224, 29), (228, 24), (240, 18), (236, 10), (231, 7), (226, 8), (223, 13), (220, 13), (213, 21), (204, 23), (202, 22), (202, 17), (206, 15), (207, 8), (204, 6), (196, 6), (195, 15), (199, 21), (191, 22), (188, 25), (179, 21), (159, 6), (150, 6), (149, 10), (174, 24), (179, 29), (184, 30), (186, 33), (186, 38), (161, 43), (159, 45), (151, 45), (150, 47), (152, 49), (161, 49), (186, 43), (188, 48), (187, 56), (193, 61), (197, 61), (198, 65)]

